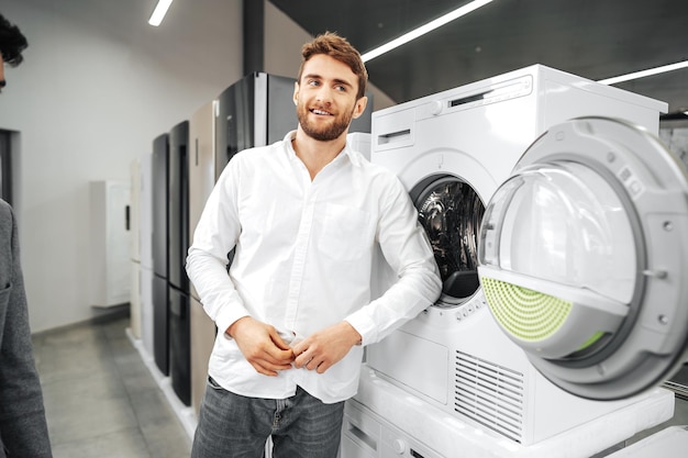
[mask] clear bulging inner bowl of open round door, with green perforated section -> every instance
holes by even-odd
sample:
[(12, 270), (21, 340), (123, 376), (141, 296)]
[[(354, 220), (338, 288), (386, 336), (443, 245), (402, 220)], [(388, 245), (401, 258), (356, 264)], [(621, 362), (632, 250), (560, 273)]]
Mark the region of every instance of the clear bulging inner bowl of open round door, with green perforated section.
[(524, 168), (492, 202), (479, 260), (499, 324), (542, 357), (602, 348), (637, 291), (631, 205), (592, 168), (565, 159)]

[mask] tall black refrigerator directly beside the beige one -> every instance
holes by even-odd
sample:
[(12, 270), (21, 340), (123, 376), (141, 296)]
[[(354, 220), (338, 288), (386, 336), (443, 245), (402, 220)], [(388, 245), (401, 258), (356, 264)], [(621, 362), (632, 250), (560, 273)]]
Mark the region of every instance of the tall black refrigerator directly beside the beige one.
[(167, 180), (169, 376), (181, 402), (191, 403), (189, 278), (185, 262), (189, 249), (189, 122), (169, 131)]

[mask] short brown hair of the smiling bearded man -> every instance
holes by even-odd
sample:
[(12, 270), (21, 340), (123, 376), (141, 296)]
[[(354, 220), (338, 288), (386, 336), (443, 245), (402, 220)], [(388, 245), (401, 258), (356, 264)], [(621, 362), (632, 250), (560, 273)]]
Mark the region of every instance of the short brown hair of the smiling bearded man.
[(303, 74), (303, 66), (317, 54), (325, 54), (333, 57), (341, 63), (348, 65), (354, 75), (358, 77), (358, 93), (356, 100), (360, 99), (366, 93), (366, 85), (368, 82), (368, 71), (363, 64), (360, 54), (355, 47), (348, 43), (348, 41), (336, 33), (325, 32), (318, 35), (311, 42), (306, 43), (301, 47), (301, 67), (299, 67), (298, 81), (301, 83), (301, 76)]

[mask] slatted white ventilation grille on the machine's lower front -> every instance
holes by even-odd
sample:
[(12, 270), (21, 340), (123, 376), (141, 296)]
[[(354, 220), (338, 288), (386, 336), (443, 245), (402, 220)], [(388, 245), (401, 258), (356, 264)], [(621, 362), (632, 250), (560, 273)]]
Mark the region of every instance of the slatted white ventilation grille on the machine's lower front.
[(522, 443), (523, 375), (456, 351), (454, 410)]

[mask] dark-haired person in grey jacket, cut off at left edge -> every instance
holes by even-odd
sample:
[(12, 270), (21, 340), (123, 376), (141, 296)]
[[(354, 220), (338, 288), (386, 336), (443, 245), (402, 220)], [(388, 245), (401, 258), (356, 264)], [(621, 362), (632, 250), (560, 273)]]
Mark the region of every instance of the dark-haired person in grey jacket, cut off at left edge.
[[(26, 38), (0, 15), (0, 87), (3, 57), (21, 62)], [(51, 458), (43, 391), (33, 359), (16, 221), (0, 199), (0, 458)]]

